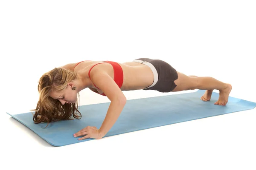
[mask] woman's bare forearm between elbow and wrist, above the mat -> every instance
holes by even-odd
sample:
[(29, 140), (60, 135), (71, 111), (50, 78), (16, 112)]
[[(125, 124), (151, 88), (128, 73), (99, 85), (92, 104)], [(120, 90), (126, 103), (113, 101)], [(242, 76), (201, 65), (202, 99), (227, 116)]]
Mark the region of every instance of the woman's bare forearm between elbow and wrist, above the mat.
[(111, 127), (116, 123), (122, 109), (124, 108), (126, 99), (117, 99), (111, 101), (106, 117), (102, 123), (102, 126), (99, 128), (99, 132), (102, 136), (105, 136), (106, 133), (111, 129)]

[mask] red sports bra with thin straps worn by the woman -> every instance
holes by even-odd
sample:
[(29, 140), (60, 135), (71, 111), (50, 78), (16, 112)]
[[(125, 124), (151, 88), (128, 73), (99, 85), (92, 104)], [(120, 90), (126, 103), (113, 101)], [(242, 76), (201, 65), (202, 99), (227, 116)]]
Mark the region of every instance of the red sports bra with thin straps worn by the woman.
[[(90, 61), (90, 60), (85, 60), (85, 61)], [(84, 62), (84, 61), (81, 61), (81, 62)], [(79, 62), (79, 63), (81, 63), (81, 62)], [(123, 84), (123, 71), (122, 71), (122, 67), (121, 67), (117, 62), (113, 62), (113, 61), (103, 61), (103, 62), (97, 63), (97, 64), (95, 64), (95, 65), (102, 64), (102, 63), (106, 63), (106, 62), (109, 63), (109, 64), (111, 64), (111, 65), (113, 66), (114, 81), (116, 82), (116, 84), (118, 85), (118, 87), (121, 88), (121, 87), (122, 87), (122, 84)], [(76, 68), (76, 66), (77, 66), (79, 63), (77, 63), (74, 68)], [(90, 71), (91, 71), (91, 69), (92, 69), (95, 65), (93, 65), (93, 66), (90, 68), (89, 72), (88, 72), (89, 78), (90, 78)], [(93, 85), (95, 85), (95, 84), (93, 83)], [(95, 85), (95, 87), (98, 88), (96, 85)], [(95, 92), (95, 91), (94, 91), (94, 92)], [(95, 92), (95, 93), (98, 93), (98, 92)], [(99, 94), (99, 93), (98, 93), (98, 94)], [(102, 96), (106, 96), (104, 93), (101, 94), (101, 95), (102, 95)]]

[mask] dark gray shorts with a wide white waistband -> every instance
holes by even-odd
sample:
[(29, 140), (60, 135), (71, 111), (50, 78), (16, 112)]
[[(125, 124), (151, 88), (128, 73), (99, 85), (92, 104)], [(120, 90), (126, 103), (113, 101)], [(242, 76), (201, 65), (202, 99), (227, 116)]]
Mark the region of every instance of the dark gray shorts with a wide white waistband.
[(160, 59), (149, 59), (149, 58), (139, 58), (135, 59), (134, 62), (140, 62), (142, 64), (148, 65), (154, 74), (154, 82), (147, 88), (143, 90), (156, 90), (160, 92), (170, 92), (177, 85), (174, 83), (178, 79), (177, 71)]

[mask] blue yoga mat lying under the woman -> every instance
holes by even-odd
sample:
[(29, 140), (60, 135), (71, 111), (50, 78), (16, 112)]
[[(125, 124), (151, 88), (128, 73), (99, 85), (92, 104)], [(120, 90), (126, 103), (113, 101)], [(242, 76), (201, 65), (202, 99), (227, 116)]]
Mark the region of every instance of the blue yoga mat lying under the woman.
[[(245, 111), (256, 107), (255, 102), (234, 97), (229, 97), (226, 106), (214, 105), (214, 102), (218, 100), (219, 94), (213, 92), (212, 98), (208, 102), (200, 100), (203, 94), (204, 91), (198, 90), (192, 93), (128, 100), (115, 125), (113, 125), (105, 137)], [(105, 119), (109, 105), (110, 102), (80, 106), (81, 119), (52, 122), (49, 123), (48, 127), (46, 127), (47, 123), (34, 124), (31, 112), (15, 115), (8, 114), (29, 127), (29, 129), (33, 130), (49, 144), (64, 146), (93, 140), (89, 138), (79, 141), (79, 137), (75, 138), (73, 134), (87, 126), (99, 128)]]

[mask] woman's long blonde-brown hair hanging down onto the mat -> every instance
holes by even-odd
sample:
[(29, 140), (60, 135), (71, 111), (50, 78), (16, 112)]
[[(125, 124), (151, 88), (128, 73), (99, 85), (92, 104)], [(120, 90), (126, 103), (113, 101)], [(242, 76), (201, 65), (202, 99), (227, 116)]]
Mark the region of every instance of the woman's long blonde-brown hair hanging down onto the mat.
[(76, 119), (81, 119), (81, 113), (77, 109), (78, 100), (76, 100), (76, 103), (62, 105), (59, 100), (52, 99), (49, 96), (51, 91), (64, 90), (67, 84), (75, 78), (76, 72), (64, 68), (54, 68), (43, 74), (38, 81), (38, 104), (36, 109), (31, 110), (35, 111), (33, 116), (34, 123), (47, 122), (48, 126), (49, 122), (70, 119), (72, 115)]

